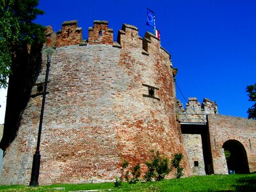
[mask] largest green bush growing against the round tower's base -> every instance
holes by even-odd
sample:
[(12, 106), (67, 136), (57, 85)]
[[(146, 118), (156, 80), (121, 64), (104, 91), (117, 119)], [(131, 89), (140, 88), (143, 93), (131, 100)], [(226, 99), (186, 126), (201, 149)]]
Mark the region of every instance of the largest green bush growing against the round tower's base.
[(144, 179), (146, 181), (152, 180), (163, 180), (168, 173), (170, 173), (170, 161), (168, 157), (160, 156), (159, 151), (157, 150), (156, 154), (154, 150), (152, 152), (152, 161), (147, 161), (146, 165), (148, 171), (145, 173)]

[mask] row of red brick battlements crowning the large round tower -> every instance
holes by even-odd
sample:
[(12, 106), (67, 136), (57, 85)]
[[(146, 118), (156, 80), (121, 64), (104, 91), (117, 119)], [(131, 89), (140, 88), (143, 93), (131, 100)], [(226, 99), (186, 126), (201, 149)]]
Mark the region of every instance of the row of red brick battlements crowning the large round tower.
[(95, 20), (93, 27), (88, 28), (88, 40), (82, 39), (82, 28), (78, 27), (77, 20), (69, 20), (62, 23), (61, 30), (57, 35), (52, 30), (51, 26), (45, 29), (46, 44), (50, 47), (63, 47), (68, 45), (113, 45), (113, 47), (132, 49), (141, 49), (141, 53), (149, 55), (150, 52), (159, 52), (159, 49), (164, 50), (160, 46), (160, 41), (150, 32), (146, 32), (145, 36), (139, 36), (139, 29), (130, 24), (123, 24), (122, 29), (118, 31), (117, 41), (113, 41), (113, 29), (109, 29), (108, 21)]

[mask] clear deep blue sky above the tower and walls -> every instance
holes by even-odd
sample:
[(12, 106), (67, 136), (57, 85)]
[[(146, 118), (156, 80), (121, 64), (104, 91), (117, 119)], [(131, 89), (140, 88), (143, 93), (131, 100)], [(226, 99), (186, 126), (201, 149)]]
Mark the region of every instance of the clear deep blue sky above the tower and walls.
[[(245, 88), (256, 83), (255, 0), (41, 0), (39, 8), (45, 15), (35, 22), (57, 32), (65, 20), (78, 20), (84, 39), (93, 20), (108, 20), (115, 41), (123, 23), (139, 28), (142, 37), (152, 32), (145, 25), (150, 8), (186, 99), (206, 97), (217, 102), (220, 114), (242, 117), (253, 105)], [(178, 90), (177, 98), (186, 103)]]

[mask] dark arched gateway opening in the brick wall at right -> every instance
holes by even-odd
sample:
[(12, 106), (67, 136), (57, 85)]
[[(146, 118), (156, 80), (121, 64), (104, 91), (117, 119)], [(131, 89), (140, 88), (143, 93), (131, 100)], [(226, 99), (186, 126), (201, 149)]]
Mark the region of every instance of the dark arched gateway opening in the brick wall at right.
[(228, 173), (250, 173), (246, 150), (242, 143), (237, 140), (225, 141), (222, 148), (230, 152), (226, 156)]

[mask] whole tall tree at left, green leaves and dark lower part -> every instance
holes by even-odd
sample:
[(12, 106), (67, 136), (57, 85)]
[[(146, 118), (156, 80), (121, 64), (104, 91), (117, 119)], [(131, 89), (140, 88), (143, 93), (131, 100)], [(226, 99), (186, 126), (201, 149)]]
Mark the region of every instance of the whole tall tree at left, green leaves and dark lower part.
[(36, 8), (39, 0), (0, 1), (0, 88), (7, 86), (3, 150), (12, 143), (19, 130), (22, 111), (26, 108), (40, 73), (41, 49), (45, 28), (33, 23), (44, 12)]

